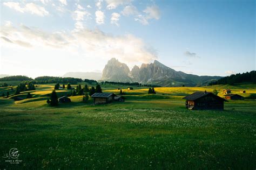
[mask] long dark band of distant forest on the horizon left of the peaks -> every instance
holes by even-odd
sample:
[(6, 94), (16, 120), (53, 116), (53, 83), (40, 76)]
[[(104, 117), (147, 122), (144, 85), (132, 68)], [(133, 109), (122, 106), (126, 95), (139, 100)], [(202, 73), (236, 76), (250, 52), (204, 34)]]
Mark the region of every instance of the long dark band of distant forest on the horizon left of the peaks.
[(52, 77), (52, 76), (41, 76), (36, 77), (35, 81), (38, 84), (47, 84), (47, 83), (71, 83), (77, 84), (78, 82), (82, 82), (82, 79), (73, 78), (73, 77)]

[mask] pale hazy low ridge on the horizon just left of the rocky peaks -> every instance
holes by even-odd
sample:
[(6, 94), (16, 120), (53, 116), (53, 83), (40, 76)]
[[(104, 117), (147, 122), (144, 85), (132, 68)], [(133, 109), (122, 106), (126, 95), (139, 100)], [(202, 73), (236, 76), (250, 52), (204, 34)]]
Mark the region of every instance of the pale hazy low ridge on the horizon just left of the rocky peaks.
[(62, 77), (74, 77), (79, 79), (99, 80), (102, 77), (102, 73), (99, 72), (69, 72)]

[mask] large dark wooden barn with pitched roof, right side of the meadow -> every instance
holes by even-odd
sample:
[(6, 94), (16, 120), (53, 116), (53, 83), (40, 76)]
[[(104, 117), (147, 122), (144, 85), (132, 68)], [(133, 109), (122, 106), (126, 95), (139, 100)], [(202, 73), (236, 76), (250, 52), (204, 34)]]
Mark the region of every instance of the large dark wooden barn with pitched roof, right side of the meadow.
[(195, 110), (216, 109), (224, 110), (224, 98), (213, 93), (197, 91), (191, 95), (184, 97), (186, 100), (186, 108)]

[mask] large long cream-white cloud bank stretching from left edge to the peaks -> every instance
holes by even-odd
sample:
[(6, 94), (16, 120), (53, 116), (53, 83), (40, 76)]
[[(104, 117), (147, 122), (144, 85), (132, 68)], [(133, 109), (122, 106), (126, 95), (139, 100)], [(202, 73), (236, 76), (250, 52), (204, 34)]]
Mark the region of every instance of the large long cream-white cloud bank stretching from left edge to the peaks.
[[(4, 46), (62, 49), (62, 52), (83, 54), (97, 59), (117, 58), (125, 62), (150, 62), (157, 59), (156, 50), (131, 34), (112, 36), (100, 30), (45, 32), (20, 25), (2, 26), (0, 36)], [(4, 37), (4, 38), (3, 38)], [(12, 43), (10, 43), (12, 42)], [(15, 49), (15, 48), (14, 48)]]

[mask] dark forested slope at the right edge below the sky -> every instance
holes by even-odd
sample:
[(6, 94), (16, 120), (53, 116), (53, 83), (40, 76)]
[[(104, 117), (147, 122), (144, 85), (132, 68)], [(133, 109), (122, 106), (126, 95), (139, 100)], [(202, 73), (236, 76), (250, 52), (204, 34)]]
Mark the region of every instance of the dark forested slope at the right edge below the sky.
[(209, 86), (216, 84), (230, 84), (234, 83), (256, 83), (256, 71), (246, 72), (246, 73), (238, 73), (232, 74), (230, 76), (223, 77), (217, 81), (210, 82)]

